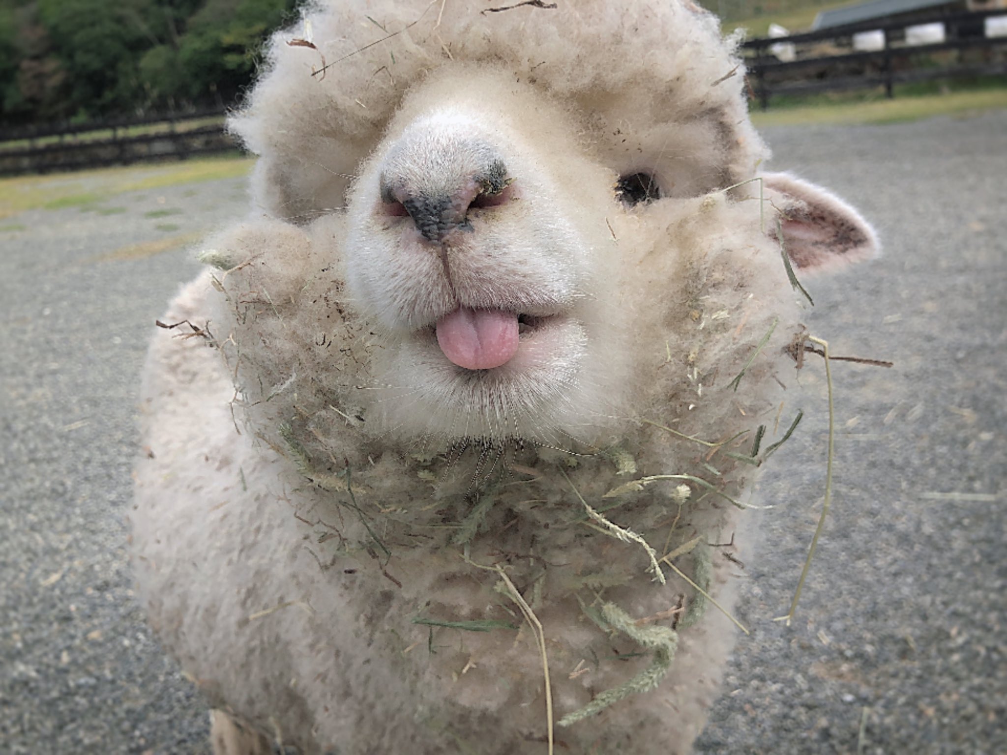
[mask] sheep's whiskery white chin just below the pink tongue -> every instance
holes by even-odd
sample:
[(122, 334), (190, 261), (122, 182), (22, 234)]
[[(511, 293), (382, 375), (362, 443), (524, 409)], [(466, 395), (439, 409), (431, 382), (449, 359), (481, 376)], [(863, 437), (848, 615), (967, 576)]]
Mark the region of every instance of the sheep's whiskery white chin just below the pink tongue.
[(492, 369), (465, 369), (441, 351), (432, 330), (388, 342), (377, 355), (374, 409), (382, 432), (404, 441), (480, 439), (569, 446), (589, 442), (606, 383), (592, 374), (592, 335), (567, 315), (523, 324), (517, 353)]

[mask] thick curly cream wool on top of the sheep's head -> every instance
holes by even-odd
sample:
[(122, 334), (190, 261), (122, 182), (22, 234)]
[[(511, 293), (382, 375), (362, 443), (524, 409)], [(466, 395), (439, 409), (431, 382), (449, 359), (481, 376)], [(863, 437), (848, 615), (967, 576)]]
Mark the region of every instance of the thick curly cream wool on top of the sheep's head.
[(458, 63), (535, 88), (573, 116), (567, 139), (620, 175), (655, 174), (670, 195), (731, 185), (768, 157), (733, 57), (740, 37), (722, 41), (717, 18), (690, 3), (484, 13), (426, 0), (341, 2), (308, 6), (307, 18), (318, 51), (287, 43), (301, 27), (274, 37), (266, 76), (231, 121), (261, 156), (255, 198), (278, 216), (342, 206), (361, 156), (378, 147), (403, 98)]

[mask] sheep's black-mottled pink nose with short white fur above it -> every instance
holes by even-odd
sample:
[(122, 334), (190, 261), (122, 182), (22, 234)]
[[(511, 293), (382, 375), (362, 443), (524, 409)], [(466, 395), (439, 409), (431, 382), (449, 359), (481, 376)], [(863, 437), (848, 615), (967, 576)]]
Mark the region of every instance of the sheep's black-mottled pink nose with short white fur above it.
[(384, 211), (408, 213), (429, 242), (470, 229), (468, 212), (505, 199), (507, 166), (481, 140), (438, 130), (407, 133), (385, 160), (380, 178)]

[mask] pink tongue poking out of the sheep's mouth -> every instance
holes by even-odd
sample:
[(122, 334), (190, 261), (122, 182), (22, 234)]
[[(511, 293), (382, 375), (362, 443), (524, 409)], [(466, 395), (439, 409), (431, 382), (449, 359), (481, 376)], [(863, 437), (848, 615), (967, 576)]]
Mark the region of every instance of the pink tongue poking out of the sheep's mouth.
[(518, 352), (518, 315), (461, 307), (437, 320), (437, 343), (459, 367), (498, 367)]

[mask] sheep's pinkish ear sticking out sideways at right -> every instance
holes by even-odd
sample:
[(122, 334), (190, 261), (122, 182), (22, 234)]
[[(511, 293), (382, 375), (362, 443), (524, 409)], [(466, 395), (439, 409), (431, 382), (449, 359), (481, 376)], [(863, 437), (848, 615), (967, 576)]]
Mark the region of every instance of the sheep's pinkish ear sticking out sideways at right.
[(782, 229), (783, 249), (803, 273), (838, 270), (877, 255), (874, 229), (835, 194), (788, 173), (761, 178), (763, 198), (778, 211), (766, 212), (766, 233), (776, 239)]

